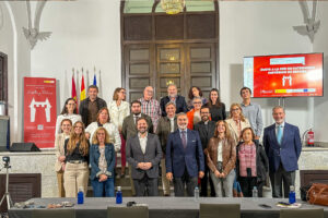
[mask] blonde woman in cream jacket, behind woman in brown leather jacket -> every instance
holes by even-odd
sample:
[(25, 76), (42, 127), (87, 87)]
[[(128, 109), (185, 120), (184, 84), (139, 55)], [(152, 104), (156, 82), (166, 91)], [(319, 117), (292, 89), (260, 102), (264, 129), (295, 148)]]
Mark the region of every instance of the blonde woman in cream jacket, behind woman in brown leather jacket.
[(237, 145), (241, 140), (242, 131), (245, 128), (250, 128), (250, 123), (247, 118), (244, 117), (243, 110), (239, 104), (232, 104), (230, 107), (230, 118), (225, 120), (231, 135)]

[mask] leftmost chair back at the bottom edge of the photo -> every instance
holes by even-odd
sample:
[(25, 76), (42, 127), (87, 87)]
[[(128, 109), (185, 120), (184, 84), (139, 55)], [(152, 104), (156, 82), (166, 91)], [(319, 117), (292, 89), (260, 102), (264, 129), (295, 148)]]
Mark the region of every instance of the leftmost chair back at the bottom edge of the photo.
[(75, 218), (74, 209), (33, 209), (32, 218)]

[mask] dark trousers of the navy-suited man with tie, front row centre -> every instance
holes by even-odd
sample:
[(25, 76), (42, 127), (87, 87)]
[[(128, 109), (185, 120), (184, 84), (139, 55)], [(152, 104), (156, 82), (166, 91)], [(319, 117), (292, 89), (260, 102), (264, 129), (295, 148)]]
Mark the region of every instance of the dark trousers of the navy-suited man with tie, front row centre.
[(187, 168), (185, 167), (185, 172), (183, 177), (176, 178), (173, 175), (174, 195), (176, 197), (185, 196), (185, 185), (187, 186), (187, 195), (194, 196), (194, 191), (198, 182), (198, 177), (190, 177), (188, 174)]

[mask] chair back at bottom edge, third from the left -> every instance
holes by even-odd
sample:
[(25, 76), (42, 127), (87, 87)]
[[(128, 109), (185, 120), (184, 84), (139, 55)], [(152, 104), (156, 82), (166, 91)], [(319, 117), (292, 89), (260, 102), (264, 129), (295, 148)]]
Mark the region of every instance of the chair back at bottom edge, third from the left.
[(241, 218), (239, 204), (200, 204), (199, 218)]

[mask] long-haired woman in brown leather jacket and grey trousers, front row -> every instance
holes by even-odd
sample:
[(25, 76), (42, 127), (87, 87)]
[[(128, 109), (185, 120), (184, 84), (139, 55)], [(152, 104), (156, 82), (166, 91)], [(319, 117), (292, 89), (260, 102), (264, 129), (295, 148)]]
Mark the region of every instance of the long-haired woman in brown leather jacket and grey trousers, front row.
[(231, 138), (227, 123), (219, 120), (214, 136), (204, 150), (211, 170), (216, 197), (232, 197), (235, 180), (236, 144)]

